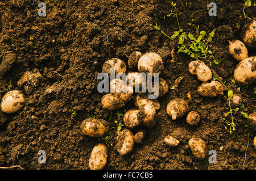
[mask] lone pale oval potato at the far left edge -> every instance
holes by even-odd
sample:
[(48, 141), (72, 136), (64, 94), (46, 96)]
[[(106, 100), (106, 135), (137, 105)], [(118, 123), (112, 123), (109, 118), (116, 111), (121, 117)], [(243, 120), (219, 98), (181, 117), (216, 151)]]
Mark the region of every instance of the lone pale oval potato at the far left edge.
[(7, 92), (1, 102), (1, 110), (5, 113), (20, 111), (25, 103), (25, 98), (21, 91), (14, 90)]

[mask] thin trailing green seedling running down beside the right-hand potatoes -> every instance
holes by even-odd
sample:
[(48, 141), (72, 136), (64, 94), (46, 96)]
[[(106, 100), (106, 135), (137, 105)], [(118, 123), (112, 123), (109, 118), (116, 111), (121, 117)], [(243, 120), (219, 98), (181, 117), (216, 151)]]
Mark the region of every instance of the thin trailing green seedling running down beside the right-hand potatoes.
[(227, 113), (228, 113), (228, 115), (231, 116), (231, 121), (226, 120), (225, 118), (223, 118), (223, 120), (226, 121), (226, 124), (229, 127), (228, 128), (227, 126), (225, 126), (225, 129), (228, 130), (230, 134), (232, 134), (234, 131), (236, 131), (236, 124), (234, 123), (234, 120), (233, 120), (233, 112), (237, 112), (239, 110), (239, 108), (238, 107), (235, 109), (231, 108), (230, 101), (232, 100), (232, 97), (233, 97), (233, 91), (228, 89), (228, 87), (225, 85), (225, 82), (222, 82), (220, 79), (218, 79), (217, 77), (214, 76), (213, 81), (216, 81), (216, 80), (219, 81), (220, 83), (222, 83), (222, 85), (224, 87), (226, 87), (226, 89), (228, 90), (229, 112), (227, 112)]

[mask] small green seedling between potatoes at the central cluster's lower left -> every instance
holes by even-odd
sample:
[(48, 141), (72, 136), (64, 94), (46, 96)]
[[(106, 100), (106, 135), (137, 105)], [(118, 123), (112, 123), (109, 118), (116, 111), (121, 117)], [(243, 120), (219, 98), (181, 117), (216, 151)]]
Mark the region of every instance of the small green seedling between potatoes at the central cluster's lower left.
[(123, 113), (121, 111), (115, 112), (115, 115), (113, 115), (113, 111), (111, 111), (109, 116), (109, 123), (111, 125), (110, 131), (105, 134), (105, 136), (102, 136), (98, 138), (98, 141), (103, 141), (104, 144), (113, 146), (113, 132), (116, 129), (117, 131), (121, 131), (123, 124)]

